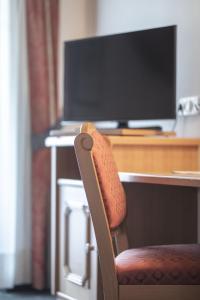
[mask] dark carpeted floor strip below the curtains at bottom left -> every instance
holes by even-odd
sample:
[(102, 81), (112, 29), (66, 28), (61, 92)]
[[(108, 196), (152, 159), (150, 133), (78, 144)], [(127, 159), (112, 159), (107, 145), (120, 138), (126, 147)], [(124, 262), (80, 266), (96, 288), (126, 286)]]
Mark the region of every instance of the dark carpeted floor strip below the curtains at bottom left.
[(54, 300), (48, 292), (39, 293), (35, 291), (0, 291), (0, 300)]

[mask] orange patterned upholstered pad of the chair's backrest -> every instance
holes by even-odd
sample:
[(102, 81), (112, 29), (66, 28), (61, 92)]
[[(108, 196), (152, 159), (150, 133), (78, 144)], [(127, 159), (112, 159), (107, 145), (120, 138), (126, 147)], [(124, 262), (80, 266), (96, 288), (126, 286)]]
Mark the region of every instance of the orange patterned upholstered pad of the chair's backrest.
[(123, 221), (126, 214), (126, 197), (119, 180), (109, 141), (96, 130), (92, 132), (92, 155), (111, 229)]

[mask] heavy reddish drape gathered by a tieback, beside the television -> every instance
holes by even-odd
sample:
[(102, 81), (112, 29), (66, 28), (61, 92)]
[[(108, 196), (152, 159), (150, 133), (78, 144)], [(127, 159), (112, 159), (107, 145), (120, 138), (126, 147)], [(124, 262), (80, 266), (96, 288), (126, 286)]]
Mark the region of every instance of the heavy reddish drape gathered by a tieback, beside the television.
[[(27, 0), (31, 127), (34, 143), (57, 118), (58, 0)], [(32, 154), (32, 281), (43, 289), (47, 276), (50, 153)]]

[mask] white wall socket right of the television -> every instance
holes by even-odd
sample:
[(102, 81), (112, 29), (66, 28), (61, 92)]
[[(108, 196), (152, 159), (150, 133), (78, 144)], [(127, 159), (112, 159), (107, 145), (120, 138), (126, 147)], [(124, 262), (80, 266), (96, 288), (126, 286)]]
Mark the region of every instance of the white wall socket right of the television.
[(200, 97), (191, 96), (178, 100), (178, 114), (180, 116), (198, 115), (200, 113)]

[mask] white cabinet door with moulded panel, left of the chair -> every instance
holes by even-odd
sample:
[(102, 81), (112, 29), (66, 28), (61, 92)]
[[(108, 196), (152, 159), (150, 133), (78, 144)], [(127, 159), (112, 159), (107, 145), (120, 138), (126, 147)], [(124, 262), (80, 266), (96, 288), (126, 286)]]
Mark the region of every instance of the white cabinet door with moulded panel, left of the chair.
[(95, 300), (97, 252), (85, 192), (78, 180), (64, 182), (59, 197), (58, 295)]

